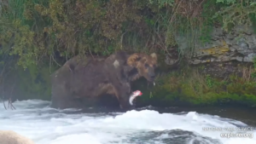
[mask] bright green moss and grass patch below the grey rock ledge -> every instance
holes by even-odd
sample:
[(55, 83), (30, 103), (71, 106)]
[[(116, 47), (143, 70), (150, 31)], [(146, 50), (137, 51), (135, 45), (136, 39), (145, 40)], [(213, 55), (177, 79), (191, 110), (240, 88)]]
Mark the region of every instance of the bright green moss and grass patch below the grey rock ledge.
[[(236, 75), (223, 80), (210, 75), (202, 75), (197, 68), (170, 72), (159, 78), (152, 89), (150, 98), (143, 95), (140, 101), (158, 101), (170, 106), (176, 101), (189, 105), (215, 105), (219, 103), (241, 103), (254, 107), (256, 105), (255, 78), (244, 79)], [(164, 104), (163, 104), (164, 105)]]

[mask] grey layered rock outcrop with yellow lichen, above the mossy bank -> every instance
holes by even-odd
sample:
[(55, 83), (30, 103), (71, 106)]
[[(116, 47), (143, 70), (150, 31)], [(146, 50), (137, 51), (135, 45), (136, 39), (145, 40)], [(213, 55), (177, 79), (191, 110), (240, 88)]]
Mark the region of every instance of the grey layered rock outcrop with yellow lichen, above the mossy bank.
[[(231, 60), (253, 62), (256, 56), (256, 34), (253, 32), (253, 27), (236, 26), (231, 32), (224, 32), (221, 27), (214, 27), (210, 36), (211, 39), (207, 43), (201, 43), (199, 37), (190, 39), (190, 37), (176, 35), (175, 38), (179, 49), (183, 52), (191, 47), (191, 41), (193, 41), (195, 49), (190, 63), (194, 65)], [(176, 61), (166, 57), (167, 65), (172, 65)]]

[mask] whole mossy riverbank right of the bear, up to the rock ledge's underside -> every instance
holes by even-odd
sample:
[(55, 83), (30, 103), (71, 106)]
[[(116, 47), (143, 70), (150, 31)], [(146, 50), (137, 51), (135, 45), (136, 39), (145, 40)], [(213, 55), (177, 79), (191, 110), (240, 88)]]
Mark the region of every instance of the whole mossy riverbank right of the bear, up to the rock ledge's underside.
[(256, 106), (256, 66), (241, 62), (218, 62), (185, 66), (160, 74), (155, 86), (143, 79), (133, 84), (142, 89), (141, 106)]

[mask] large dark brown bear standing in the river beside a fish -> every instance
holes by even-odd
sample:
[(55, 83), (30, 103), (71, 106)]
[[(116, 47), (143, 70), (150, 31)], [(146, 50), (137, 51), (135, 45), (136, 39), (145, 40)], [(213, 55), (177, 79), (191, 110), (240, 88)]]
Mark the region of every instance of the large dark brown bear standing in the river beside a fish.
[(154, 82), (157, 55), (124, 51), (108, 57), (75, 56), (51, 75), (51, 107), (79, 108), (90, 106), (96, 97), (114, 95), (119, 107), (131, 108), (131, 81), (144, 77)]

